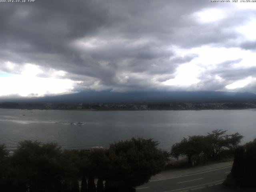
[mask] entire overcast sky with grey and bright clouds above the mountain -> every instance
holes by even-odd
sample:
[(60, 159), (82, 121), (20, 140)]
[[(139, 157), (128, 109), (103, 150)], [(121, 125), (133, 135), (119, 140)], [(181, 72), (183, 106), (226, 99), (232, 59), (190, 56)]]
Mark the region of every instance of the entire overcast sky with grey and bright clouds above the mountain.
[(256, 93), (256, 2), (0, 2), (0, 96)]

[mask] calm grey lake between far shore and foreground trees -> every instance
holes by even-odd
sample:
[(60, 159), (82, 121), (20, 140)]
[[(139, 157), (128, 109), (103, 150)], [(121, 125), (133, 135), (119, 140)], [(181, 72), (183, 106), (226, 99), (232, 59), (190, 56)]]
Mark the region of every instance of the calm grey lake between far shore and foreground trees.
[[(82, 126), (75, 124), (81, 122)], [(154, 138), (158, 147), (214, 129), (256, 138), (256, 110), (67, 111), (0, 109), (0, 144), (13, 150), (22, 140), (58, 142), (63, 148), (109, 146), (131, 137)]]

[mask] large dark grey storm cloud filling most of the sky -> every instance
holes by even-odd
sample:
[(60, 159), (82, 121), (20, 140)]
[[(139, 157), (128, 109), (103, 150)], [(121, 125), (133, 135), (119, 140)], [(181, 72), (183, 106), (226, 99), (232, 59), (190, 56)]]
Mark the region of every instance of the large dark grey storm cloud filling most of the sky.
[[(174, 78), (181, 64), (197, 57), (177, 55), (176, 47), (221, 47), (238, 38), (233, 28), (253, 12), (236, 10), (214, 23), (200, 23), (194, 15), (228, 6), (205, 0), (37, 0), (1, 4), (0, 70), (19, 74), (26, 63), (41, 66), (45, 72), (41, 77), (49, 76), (51, 68), (64, 70), (68, 74), (60, 78), (83, 81), (78, 90), (166, 89), (157, 82)], [(254, 49), (255, 42), (241, 47)], [(18, 67), (7, 68), (7, 61)], [(227, 79), (251, 74), (244, 70), (244, 75), (239, 75), (228, 67), (213, 73)], [(198, 89), (210, 85), (207, 73), (202, 74), (201, 84)]]

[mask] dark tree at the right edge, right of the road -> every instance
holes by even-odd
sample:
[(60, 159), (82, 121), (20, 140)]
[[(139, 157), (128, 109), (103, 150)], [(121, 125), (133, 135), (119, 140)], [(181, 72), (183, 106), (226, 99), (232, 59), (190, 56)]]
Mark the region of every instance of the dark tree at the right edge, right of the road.
[(224, 184), (256, 187), (256, 139), (236, 149), (231, 173)]

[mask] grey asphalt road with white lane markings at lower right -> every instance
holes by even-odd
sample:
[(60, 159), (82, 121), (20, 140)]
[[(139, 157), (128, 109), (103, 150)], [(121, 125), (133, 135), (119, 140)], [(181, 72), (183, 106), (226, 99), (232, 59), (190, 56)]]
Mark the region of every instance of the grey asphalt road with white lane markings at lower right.
[(183, 192), (213, 186), (222, 183), (231, 168), (232, 166), (226, 166), (184, 176), (150, 180), (137, 187), (136, 192)]

